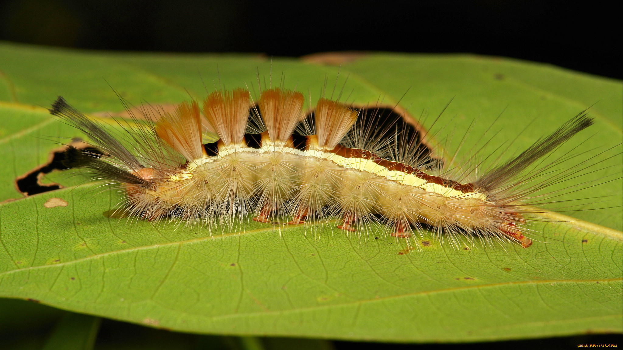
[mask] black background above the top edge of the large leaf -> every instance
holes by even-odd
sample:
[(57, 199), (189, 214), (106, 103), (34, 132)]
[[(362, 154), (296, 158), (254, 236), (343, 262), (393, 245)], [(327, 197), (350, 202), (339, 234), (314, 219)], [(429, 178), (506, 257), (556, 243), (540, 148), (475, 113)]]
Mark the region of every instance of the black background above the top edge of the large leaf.
[(178, 52), (470, 52), (623, 78), (598, 1), (0, 0), (0, 40)]

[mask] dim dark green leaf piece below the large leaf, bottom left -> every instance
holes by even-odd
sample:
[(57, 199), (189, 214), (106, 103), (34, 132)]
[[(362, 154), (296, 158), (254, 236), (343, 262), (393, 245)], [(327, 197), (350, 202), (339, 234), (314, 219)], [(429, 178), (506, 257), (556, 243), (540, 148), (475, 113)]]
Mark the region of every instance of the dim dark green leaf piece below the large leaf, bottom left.
[(91, 350), (102, 319), (66, 313), (47, 339), (43, 350)]

